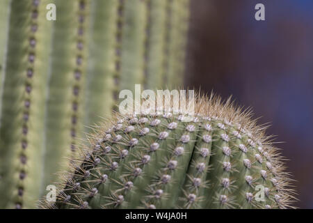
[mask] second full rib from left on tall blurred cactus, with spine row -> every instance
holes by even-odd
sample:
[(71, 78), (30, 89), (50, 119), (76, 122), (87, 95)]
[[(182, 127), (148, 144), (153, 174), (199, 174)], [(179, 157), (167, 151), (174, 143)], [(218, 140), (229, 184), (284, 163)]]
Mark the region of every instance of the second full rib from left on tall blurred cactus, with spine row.
[(44, 187), (56, 181), (54, 173), (62, 171), (61, 163), (66, 162), (62, 157), (70, 155), (77, 144), (76, 137), (79, 137), (83, 123), (82, 95), (86, 79), (89, 1), (58, 0), (56, 6), (61, 10), (54, 21), (49, 69)]

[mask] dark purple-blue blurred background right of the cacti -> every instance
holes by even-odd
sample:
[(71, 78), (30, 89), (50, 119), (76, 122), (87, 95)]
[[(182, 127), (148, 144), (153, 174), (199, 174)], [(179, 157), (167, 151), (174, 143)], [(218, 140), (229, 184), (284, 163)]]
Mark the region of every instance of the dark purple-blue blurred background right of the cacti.
[[(255, 20), (255, 5), (265, 21)], [(191, 1), (185, 86), (251, 106), (313, 208), (313, 0)]]

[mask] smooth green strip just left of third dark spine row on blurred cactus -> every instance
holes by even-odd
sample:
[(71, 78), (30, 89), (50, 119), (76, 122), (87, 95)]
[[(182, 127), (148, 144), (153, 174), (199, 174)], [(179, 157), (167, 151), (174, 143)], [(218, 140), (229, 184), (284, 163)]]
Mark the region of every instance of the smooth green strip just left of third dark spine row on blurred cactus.
[[(118, 1), (91, 2), (90, 49), (86, 97), (86, 125), (99, 122), (100, 116), (111, 114), (115, 73), (115, 35)], [(103, 101), (99, 103), (99, 101)], [(89, 130), (86, 130), (89, 131)]]

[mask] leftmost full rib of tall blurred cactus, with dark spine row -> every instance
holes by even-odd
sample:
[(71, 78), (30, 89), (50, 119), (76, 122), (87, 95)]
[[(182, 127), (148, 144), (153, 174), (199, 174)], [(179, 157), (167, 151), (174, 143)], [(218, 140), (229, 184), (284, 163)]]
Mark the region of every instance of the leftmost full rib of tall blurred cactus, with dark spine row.
[(34, 208), (39, 197), (50, 39), (45, 2), (11, 3), (0, 132), (1, 207)]

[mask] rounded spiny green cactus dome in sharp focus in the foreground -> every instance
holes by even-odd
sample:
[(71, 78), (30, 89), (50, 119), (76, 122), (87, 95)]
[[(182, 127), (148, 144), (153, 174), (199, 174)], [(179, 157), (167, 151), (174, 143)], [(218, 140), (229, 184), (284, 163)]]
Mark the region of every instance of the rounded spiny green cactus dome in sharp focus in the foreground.
[(251, 114), (218, 98), (195, 110), (188, 123), (171, 113), (117, 115), (73, 160), (56, 203), (43, 207), (289, 208), (282, 158)]

